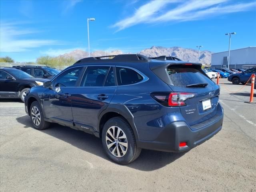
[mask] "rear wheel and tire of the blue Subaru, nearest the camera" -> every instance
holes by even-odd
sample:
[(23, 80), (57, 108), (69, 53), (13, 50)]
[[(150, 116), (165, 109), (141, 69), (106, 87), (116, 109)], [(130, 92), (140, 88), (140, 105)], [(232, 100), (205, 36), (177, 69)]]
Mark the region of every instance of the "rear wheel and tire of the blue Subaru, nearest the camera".
[(140, 155), (132, 128), (120, 117), (108, 120), (102, 130), (102, 145), (107, 156), (118, 164), (128, 164)]

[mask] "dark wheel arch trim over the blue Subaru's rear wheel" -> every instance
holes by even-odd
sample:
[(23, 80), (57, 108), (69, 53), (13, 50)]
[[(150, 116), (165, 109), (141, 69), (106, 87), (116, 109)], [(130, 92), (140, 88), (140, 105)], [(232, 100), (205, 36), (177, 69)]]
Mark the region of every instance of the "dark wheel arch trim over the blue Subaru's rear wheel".
[(132, 130), (134, 132), (134, 136), (136, 138), (136, 140), (139, 140), (139, 136), (138, 136), (138, 131), (137, 128), (134, 124), (134, 116), (132, 115), (132, 113), (130, 112), (130, 110), (123, 104), (109, 104), (108, 106), (104, 107), (98, 114), (98, 126), (97, 126), (97, 131), (100, 131), (100, 120), (102, 118), (102, 116), (104, 116), (104, 114), (108, 113), (108, 112), (116, 112), (120, 115), (122, 115), (130, 124), (130, 126), (132, 127)]

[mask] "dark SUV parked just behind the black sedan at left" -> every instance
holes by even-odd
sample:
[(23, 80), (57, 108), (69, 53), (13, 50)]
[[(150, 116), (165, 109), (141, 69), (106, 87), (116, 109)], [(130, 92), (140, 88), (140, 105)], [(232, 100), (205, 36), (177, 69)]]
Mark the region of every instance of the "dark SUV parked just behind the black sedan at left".
[(43, 67), (43, 66), (24, 65), (24, 66), (13, 66), (13, 68), (22, 70), (36, 78), (51, 79), (60, 73), (60, 71), (55, 68)]

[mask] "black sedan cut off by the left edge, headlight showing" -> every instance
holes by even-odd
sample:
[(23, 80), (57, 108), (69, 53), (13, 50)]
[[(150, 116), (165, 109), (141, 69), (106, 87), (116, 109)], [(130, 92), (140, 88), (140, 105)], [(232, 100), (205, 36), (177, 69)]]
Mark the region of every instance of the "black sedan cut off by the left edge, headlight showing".
[(31, 87), (43, 85), (45, 79), (34, 78), (21, 70), (0, 68), (0, 98), (20, 98), (24, 102)]

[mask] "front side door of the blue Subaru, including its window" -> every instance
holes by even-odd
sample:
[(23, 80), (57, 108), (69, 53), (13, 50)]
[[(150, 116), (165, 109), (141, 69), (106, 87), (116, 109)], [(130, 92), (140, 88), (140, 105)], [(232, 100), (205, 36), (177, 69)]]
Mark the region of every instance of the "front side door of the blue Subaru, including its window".
[(42, 103), (46, 118), (59, 124), (72, 126), (71, 95), (80, 82), (84, 67), (75, 67), (62, 72), (52, 80), (52, 88), (44, 92)]

